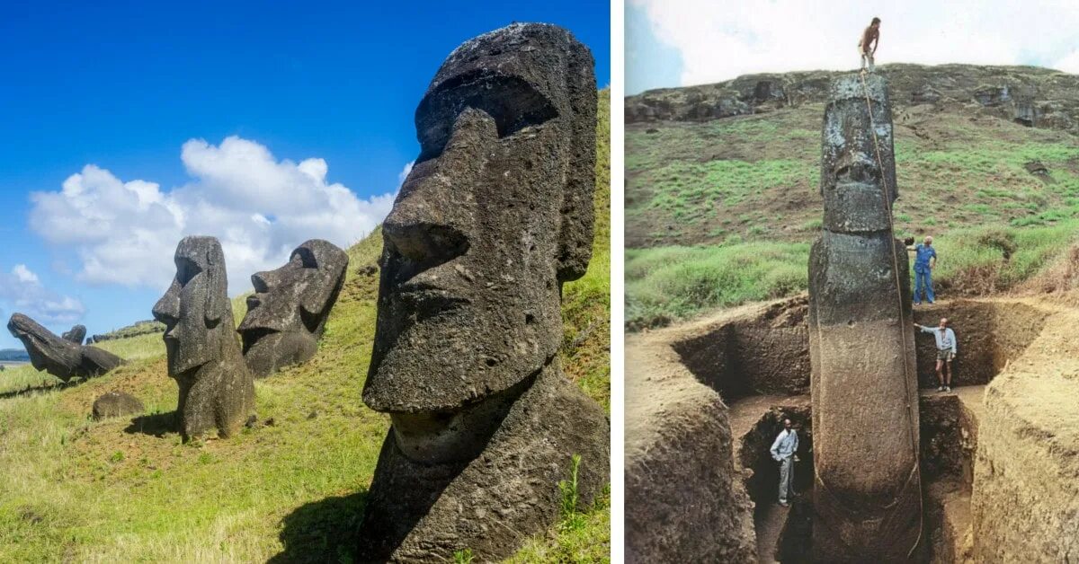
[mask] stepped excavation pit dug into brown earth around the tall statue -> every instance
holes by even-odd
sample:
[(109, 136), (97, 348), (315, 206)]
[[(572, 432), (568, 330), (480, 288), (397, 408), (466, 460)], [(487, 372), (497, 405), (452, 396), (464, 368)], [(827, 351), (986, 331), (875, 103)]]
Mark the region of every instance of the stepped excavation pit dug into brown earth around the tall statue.
[[(769, 305), (711, 330), (674, 341), (682, 364), (726, 402), (734, 470), (753, 501), (761, 562), (808, 562), (811, 542), (812, 419), (804, 298)], [(956, 562), (971, 550), (971, 491), (978, 421), (985, 384), (1041, 331), (1047, 314), (1017, 302), (957, 301), (915, 312), (919, 325), (951, 320), (959, 342), (952, 394), (935, 391), (935, 345), (918, 334), (923, 560)], [(768, 449), (790, 417), (798, 429), (800, 462), (790, 508), (777, 505), (779, 466)], [(966, 555), (966, 556), (965, 556)]]

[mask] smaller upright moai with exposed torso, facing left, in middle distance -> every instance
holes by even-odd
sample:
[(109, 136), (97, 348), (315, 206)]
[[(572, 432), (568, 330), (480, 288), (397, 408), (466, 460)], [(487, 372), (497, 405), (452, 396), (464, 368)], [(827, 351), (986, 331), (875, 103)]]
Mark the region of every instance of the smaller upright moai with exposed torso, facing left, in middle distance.
[(255, 411), (255, 384), (240, 354), (228, 295), (224, 253), (214, 237), (185, 237), (176, 247), (176, 278), (153, 306), (165, 324), (168, 375), (180, 388), (176, 408), (183, 440), (216, 428), (240, 430)]

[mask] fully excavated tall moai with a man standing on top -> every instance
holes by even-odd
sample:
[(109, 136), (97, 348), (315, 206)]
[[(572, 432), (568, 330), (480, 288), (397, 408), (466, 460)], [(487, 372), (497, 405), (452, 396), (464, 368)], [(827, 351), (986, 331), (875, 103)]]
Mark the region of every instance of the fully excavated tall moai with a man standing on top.
[(910, 274), (891, 230), (891, 106), (883, 75), (864, 80), (864, 88), (858, 74), (830, 86), (823, 232), (809, 253), (817, 562), (906, 560), (920, 531)]

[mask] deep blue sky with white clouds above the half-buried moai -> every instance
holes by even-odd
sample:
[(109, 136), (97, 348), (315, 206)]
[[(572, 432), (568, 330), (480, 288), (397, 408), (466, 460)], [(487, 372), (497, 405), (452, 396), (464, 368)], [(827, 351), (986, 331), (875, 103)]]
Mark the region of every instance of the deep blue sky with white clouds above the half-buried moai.
[(230, 237), (233, 293), (308, 232), (358, 238), (419, 152), (428, 81), (468, 38), (558, 24), (611, 80), (607, 1), (88, 4), (0, 19), (0, 317), (29, 309), (56, 332), (150, 317), (174, 273), (163, 223)]

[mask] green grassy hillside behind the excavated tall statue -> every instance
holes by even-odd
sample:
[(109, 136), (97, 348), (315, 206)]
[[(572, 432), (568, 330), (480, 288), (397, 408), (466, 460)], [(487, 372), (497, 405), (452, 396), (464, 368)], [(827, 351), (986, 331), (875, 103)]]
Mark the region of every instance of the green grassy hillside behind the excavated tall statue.
[[(627, 125), (627, 325), (801, 291), (820, 229), (822, 105)], [(648, 133), (648, 130), (652, 133)], [(1079, 231), (1079, 139), (997, 118), (898, 111), (897, 235), (937, 237), (941, 289), (1013, 287)], [(1047, 183), (1024, 165), (1040, 161)], [(1015, 245), (1008, 259), (1001, 247)], [(992, 284), (985, 284), (988, 275)]]

